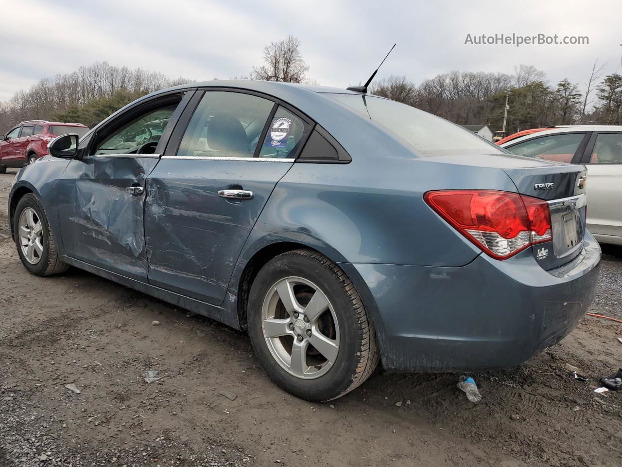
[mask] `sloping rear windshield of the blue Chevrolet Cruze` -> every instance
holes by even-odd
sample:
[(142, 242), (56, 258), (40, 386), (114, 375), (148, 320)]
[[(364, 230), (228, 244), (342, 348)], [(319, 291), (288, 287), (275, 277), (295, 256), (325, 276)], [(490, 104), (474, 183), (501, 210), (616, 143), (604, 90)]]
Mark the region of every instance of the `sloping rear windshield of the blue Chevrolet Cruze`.
[(325, 94), (399, 136), (422, 156), (437, 154), (503, 154), (496, 144), (444, 118), (410, 105), (374, 96)]

